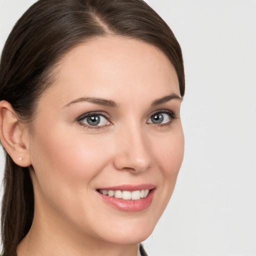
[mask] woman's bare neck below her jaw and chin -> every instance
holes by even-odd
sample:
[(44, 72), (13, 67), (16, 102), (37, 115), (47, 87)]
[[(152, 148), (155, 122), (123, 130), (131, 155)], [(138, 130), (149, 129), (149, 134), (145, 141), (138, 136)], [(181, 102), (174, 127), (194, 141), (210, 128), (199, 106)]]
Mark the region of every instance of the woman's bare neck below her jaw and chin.
[[(52, 220), (54, 219), (54, 220)], [(18, 256), (136, 256), (137, 243), (118, 244), (86, 234), (59, 219), (36, 217), (17, 247)], [(110, 232), (109, 232), (110, 233)]]

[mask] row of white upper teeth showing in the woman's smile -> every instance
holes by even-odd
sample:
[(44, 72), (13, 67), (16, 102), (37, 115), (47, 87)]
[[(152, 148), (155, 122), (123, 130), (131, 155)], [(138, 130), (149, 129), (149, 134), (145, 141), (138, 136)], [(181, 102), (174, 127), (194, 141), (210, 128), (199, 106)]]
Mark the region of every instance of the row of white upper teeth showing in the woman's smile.
[(101, 194), (113, 196), (115, 198), (122, 198), (124, 200), (139, 200), (148, 195), (148, 189), (136, 190), (136, 191), (121, 191), (121, 190), (106, 190), (98, 189)]

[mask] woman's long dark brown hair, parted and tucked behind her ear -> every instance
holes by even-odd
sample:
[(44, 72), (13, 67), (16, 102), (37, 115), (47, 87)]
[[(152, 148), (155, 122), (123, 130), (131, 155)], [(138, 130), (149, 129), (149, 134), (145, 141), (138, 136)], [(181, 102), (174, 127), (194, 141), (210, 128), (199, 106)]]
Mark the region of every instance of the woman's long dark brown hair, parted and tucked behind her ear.
[[(4, 45), (0, 100), (12, 105), (20, 121), (31, 121), (60, 58), (78, 43), (106, 34), (136, 38), (161, 49), (174, 66), (184, 95), (180, 46), (143, 0), (39, 0), (17, 21)], [(31, 226), (34, 198), (28, 168), (5, 154), (1, 234), (5, 256), (12, 256)]]

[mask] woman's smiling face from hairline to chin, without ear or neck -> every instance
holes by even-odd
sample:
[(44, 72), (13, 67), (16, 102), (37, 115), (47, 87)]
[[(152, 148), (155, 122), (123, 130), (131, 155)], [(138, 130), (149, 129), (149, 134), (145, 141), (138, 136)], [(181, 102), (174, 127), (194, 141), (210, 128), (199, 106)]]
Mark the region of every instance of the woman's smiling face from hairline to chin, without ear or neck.
[(104, 242), (144, 240), (183, 158), (173, 66), (152, 45), (108, 36), (73, 48), (55, 72), (29, 136), (34, 224)]

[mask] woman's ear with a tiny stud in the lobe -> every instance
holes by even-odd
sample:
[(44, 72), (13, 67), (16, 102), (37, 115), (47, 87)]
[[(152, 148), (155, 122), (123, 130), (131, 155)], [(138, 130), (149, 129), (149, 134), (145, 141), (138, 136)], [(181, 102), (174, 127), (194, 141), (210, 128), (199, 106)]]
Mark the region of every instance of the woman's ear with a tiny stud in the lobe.
[[(0, 140), (6, 152), (19, 166), (31, 165), (29, 156), (29, 140), (25, 124), (21, 123), (11, 104), (0, 101)], [(26, 127), (27, 129), (27, 127)]]

